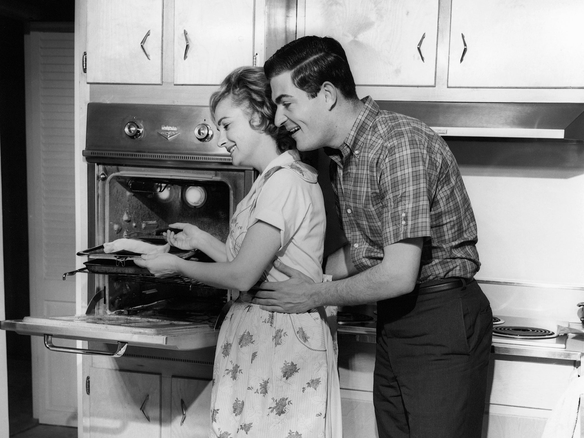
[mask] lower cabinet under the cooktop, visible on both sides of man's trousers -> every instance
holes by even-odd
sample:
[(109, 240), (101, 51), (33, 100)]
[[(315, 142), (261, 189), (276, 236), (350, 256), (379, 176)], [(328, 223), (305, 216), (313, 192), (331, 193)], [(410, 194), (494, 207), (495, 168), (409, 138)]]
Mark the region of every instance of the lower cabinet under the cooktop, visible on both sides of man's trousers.
[[(363, 335), (357, 338), (339, 333), (338, 339), (343, 438), (376, 438), (376, 345)], [(362, 342), (356, 342), (359, 339)], [(482, 438), (541, 437), (551, 410), (578, 371), (577, 366), (573, 360), (492, 353)]]

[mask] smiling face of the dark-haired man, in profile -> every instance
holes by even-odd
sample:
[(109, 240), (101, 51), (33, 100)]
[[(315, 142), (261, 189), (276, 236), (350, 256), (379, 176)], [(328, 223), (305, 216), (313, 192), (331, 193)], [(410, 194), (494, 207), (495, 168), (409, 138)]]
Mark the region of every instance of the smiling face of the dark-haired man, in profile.
[(326, 144), (326, 131), (329, 112), (326, 109), (323, 91), (311, 99), (300, 88), (297, 88), (290, 77), (290, 72), (284, 72), (270, 79), (272, 100), (276, 103), (276, 126), (283, 125), (292, 133), (296, 147), (300, 151), (312, 151)]

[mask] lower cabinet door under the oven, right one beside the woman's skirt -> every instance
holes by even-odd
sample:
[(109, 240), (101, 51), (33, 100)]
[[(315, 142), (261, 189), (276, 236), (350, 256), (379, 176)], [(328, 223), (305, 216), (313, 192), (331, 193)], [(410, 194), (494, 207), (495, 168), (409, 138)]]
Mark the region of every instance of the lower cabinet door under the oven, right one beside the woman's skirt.
[(206, 438), (209, 433), (211, 380), (172, 378), (172, 438)]

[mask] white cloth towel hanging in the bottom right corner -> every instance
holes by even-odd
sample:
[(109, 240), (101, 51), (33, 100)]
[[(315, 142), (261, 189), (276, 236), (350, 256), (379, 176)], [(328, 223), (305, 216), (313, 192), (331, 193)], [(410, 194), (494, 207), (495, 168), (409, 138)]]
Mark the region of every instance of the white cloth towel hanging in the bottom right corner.
[(573, 378), (552, 409), (541, 438), (575, 438), (580, 436), (580, 396), (583, 394), (584, 377)]

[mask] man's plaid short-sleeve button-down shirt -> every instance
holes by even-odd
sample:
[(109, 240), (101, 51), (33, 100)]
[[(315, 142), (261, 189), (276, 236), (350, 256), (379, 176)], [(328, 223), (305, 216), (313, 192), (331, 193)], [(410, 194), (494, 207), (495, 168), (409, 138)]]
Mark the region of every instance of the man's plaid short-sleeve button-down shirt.
[(340, 149), (327, 148), (354, 265), (369, 269), (384, 246), (423, 237), (419, 282), (471, 278), (480, 266), (477, 224), (450, 148), (421, 121), (362, 101)]

